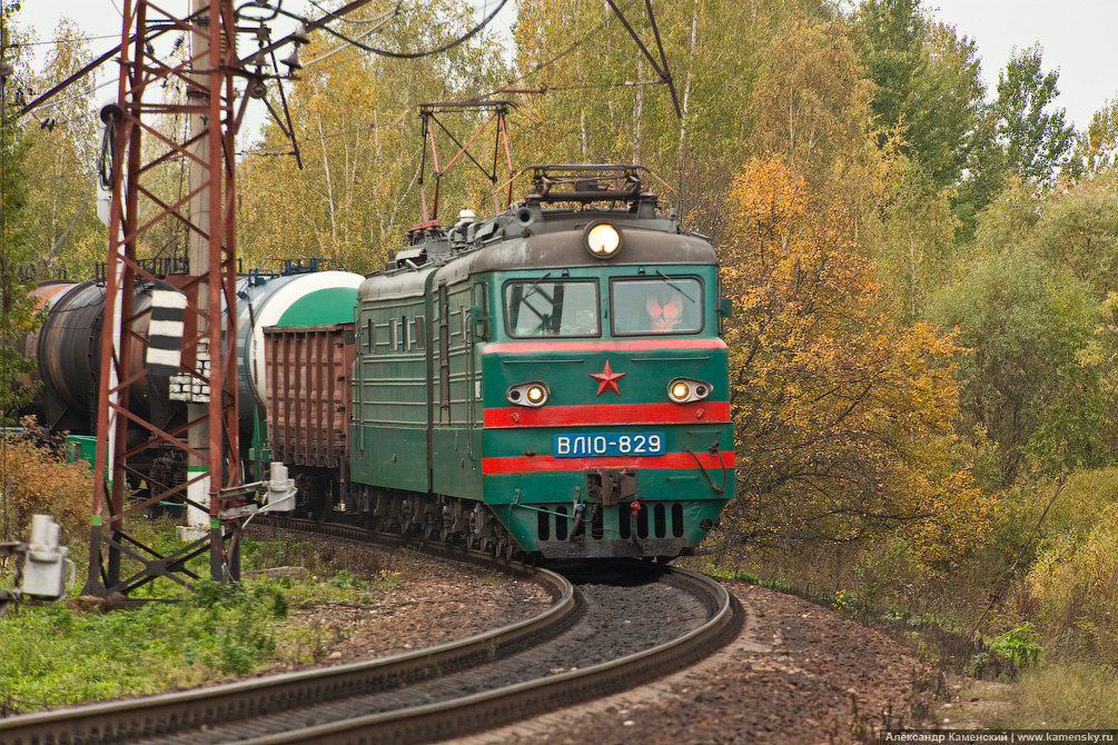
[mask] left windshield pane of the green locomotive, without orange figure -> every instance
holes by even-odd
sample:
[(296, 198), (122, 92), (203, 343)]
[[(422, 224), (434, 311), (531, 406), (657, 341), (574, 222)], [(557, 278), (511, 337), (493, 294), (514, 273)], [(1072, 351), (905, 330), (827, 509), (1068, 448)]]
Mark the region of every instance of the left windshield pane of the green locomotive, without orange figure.
[(598, 283), (549, 279), (510, 281), (504, 286), (505, 318), (511, 336), (598, 336)]

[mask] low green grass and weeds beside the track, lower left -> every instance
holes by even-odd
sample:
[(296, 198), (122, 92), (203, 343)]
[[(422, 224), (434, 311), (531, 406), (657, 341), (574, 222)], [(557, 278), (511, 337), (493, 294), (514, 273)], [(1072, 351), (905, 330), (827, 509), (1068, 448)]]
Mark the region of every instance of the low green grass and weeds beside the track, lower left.
[(161, 693), (268, 662), (278, 583), (202, 580), (186, 602), (78, 614), (65, 605), (21, 608), (0, 618), (0, 700), (17, 710)]

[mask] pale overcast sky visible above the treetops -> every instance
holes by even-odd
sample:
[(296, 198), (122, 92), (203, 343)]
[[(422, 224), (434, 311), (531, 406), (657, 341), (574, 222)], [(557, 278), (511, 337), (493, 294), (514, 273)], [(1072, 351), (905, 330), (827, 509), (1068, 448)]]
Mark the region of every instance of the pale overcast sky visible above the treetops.
[[(4, 6), (12, 2), (0, 1)], [(657, 0), (653, 8), (664, 1)], [(171, 11), (187, 7), (184, 0), (159, 4)], [(288, 8), (301, 4), (287, 2)], [(475, 0), (475, 4), (493, 7), (495, 0)], [(49, 38), (63, 15), (77, 20), (94, 37), (121, 32), (123, 0), (22, 0), (21, 6), (21, 22), (35, 26), (40, 38)], [(509, 6), (513, 6), (512, 0)], [(1095, 112), (1118, 96), (1118, 44), (1114, 40), (1118, 1), (925, 0), (925, 7), (954, 25), (960, 36), (977, 41), (987, 95), (993, 95), (998, 70), (1005, 67), (1013, 47), (1023, 49), (1039, 41), (1044, 70), (1060, 71), (1057, 106), (1067, 109), (1068, 120), (1077, 127), (1086, 127)], [(96, 40), (92, 48), (100, 51), (112, 44), (111, 39)]]

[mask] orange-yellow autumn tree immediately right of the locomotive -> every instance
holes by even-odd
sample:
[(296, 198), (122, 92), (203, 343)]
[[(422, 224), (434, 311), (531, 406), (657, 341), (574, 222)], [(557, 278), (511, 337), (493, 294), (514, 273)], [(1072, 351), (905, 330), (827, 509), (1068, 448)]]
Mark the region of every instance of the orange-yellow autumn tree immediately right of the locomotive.
[(873, 311), (873, 268), (847, 219), (813, 204), (778, 160), (752, 160), (727, 207), (731, 539), (850, 542), (899, 528), (929, 561), (979, 542), (988, 504), (956, 449), (953, 337)]

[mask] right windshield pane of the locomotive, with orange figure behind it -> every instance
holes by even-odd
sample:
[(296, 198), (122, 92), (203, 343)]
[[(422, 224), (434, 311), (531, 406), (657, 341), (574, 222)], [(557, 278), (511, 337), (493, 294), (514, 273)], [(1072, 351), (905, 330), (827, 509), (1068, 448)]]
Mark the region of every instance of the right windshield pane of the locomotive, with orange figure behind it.
[(702, 331), (702, 283), (695, 277), (616, 279), (614, 334), (695, 334)]

